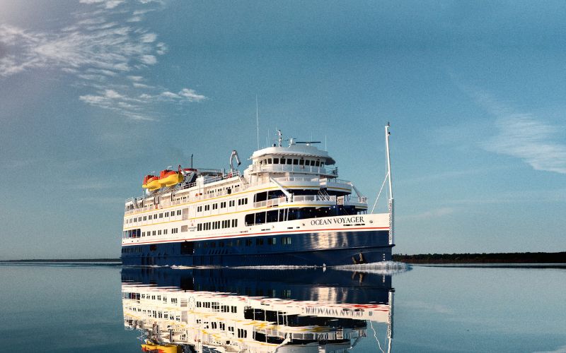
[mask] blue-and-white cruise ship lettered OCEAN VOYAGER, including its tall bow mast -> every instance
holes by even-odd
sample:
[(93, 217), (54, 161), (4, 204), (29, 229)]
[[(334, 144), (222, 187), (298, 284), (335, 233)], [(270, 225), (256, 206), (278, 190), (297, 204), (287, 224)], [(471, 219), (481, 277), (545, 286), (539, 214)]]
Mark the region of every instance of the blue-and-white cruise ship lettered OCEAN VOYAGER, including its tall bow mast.
[[(393, 190), (385, 127), (388, 212), (339, 179), (315, 142), (284, 140), (253, 152), (243, 171), (164, 169), (125, 203), (122, 264), (142, 266), (352, 265), (391, 260)], [(381, 193), (381, 191), (380, 191)]]

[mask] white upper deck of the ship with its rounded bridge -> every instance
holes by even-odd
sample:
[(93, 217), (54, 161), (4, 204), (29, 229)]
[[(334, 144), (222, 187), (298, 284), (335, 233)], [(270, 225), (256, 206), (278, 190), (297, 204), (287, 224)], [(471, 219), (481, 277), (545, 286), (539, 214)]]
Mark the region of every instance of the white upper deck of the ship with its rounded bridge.
[[(236, 151), (233, 153), (237, 155)], [(139, 211), (140, 208), (153, 209), (159, 201), (165, 201), (168, 205), (203, 201), (233, 195), (272, 180), (276, 180), (283, 187), (299, 183), (304, 189), (335, 188), (343, 193), (352, 192), (350, 181), (337, 179), (337, 167), (327, 167), (335, 164), (335, 160), (328, 152), (311, 145), (311, 142), (295, 142), (291, 138), (288, 146), (282, 146), (282, 138), (279, 135), (279, 145), (274, 144), (272, 147), (253, 152), (250, 160), (252, 163), (243, 173), (236, 169), (229, 172), (220, 169), (198, 169), (197, 178), (192, 179), (192, 182), (181, 182), (145, 193), (138, 198), (128, 198), (125, 204), (126, 215)], [(159, 201), (156, 201), (157, 199)], [(161, 205), (163, 206), (163, 202)]]

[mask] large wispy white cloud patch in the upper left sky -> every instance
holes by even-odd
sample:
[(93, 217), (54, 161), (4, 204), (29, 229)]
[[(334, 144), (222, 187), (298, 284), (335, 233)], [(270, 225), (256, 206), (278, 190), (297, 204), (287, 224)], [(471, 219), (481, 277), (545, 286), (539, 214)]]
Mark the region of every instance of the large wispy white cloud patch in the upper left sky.
[[(76, 13), (74, 23), (54, 32), (0, 25), (0, 80), (36, 69), (62, 71), (83, 90), (79, 100), (136, 121), (159, 119), (157, 102), (207, 98), (190, 88), (172, 93), (144, 79), (143, 72), (158, 64), (167, 45), (138, 23), (149, 11), (161, 8), (161, 1), (139, 0), (145, 8), (135, 10), (122, 0), (80, 2), (95, 11)], [(128, 12), (137, 18), (134, 23), (123, 19)]]

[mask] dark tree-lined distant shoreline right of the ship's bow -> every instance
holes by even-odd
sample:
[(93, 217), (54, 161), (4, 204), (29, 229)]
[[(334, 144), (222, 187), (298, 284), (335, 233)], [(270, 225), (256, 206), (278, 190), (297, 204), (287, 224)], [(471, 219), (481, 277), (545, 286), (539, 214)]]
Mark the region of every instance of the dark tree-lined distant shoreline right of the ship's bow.
[(559, 253), (422, 253), (393, 254), (403, 263), (566, 263), (566, 251)]

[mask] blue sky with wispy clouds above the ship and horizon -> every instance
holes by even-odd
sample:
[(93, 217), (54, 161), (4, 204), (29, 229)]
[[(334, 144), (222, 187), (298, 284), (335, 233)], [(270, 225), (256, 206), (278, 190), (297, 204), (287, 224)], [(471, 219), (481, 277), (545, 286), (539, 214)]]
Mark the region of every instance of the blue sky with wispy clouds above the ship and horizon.
[[(117, 258), (170, 165), (322, 141), (395, 253), (566, 250), (564, 1), (0, 0), (0, 259)], [(386, 202), (380, 198), (378, 208)]]

